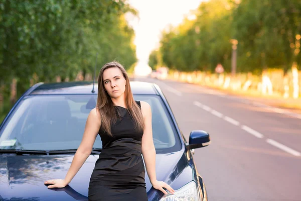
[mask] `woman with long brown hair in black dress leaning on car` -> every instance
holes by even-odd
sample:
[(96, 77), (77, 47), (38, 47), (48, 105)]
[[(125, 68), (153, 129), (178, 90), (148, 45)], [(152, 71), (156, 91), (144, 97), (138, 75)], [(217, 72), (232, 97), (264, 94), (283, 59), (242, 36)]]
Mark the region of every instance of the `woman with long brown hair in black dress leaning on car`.
[(164, 188), (175, 192), (156, 178), (152, 111), (146, 102), (133, 99), (126, 71), (118, 62), (101, 68), (96, 108), (87, 118), (82, 142), (65, 179), (45, 181), (51, 184), (48, 188), (65, 187), (71, 182), (90, 155), (98, 134), (102, 151), (90, 178), (89, 200), (147, 200), (142, 160), (154, 188), (165, 194)]

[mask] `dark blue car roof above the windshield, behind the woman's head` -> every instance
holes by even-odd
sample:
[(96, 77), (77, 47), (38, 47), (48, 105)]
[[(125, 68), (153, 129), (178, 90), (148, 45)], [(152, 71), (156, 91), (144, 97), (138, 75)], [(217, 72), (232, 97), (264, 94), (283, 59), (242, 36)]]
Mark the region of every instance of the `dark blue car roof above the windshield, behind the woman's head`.
[[(159, 94), (154, 83), (130, 81), (131, 91), (133, 94)], [(92, 93), (92, 81), (76, 82), (58, 82), (58, 83), (40, 83), (28, 95), (38, 94), (97, 94), (97, 82), (94, 85), (95, 92)]]

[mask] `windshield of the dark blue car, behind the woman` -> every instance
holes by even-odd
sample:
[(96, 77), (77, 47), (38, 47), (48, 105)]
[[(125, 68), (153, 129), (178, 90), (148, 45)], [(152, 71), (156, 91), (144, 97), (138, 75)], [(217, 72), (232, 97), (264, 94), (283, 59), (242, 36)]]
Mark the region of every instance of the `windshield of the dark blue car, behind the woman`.
[[(179, 137), (160, 96), (134, 95), (134, 99), (143, 100), (152, 108), (156, 150), (179, 150)], [(77, 149), (96, 100), (96, 94), (31, 95), (24, 98), (0, 131), (0, 149)], [(93, 148), (101, 147), (98, 135)]]

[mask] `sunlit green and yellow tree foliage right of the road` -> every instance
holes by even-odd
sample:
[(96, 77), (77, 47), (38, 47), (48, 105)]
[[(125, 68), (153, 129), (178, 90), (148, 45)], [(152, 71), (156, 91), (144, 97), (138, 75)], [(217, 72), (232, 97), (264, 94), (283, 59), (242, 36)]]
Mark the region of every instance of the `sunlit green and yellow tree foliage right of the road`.
[[(231, 71), (231, 39), (238, 40), (237, 70), (260, 72), (301, 62), (301, 1), (211, 0), (194, 11), (195, 20), (162, 33), (163, 63), (181, 71)], [(150, 55), (152, 56), (152, 55)]]

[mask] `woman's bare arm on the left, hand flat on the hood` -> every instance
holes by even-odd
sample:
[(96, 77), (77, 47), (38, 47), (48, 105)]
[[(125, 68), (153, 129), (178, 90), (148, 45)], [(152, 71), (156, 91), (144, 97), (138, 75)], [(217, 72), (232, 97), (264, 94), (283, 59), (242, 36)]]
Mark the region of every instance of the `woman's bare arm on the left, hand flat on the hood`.
[(65, 179), (51, 179), (45, 181), (45, 184), (52, 184), (49, 185), (48, 188), (62, 188), (71, 182), (73, 177), (87, 160), (88, 156), (91, 154), (95, 139), (100, 128), (100, 124), (101, 121), (99, 111), (94, 108), (93, 110), (91, 110), (87, 118), (82, 141), (73, 157), (71, 166), (66, 174)]

